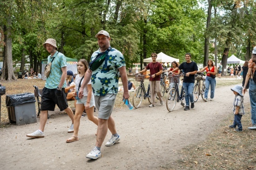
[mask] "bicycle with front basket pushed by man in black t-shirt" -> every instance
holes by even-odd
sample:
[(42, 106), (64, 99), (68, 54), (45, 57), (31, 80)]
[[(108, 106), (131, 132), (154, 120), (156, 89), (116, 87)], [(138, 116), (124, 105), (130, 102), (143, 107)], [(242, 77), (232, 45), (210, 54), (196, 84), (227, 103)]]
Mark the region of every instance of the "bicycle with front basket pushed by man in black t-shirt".
[[(167, 93), (167, 99), (166, 99), (166, 108), (169, 112), (173, 111), (176, 102), (182, 101), (181, 105), (184, 107), (184, 99), (185, 99), (185, 91), (182, 86), (181, 93), (179, 92), (178, 85), (177, 83), (180, 82), (180, 76), (184, 76), (184, 74), (181, 75), (175, 75), (175, 74), (170, 74), (168, 77), (170, 79), (170, 83), (174, 82), (174, 87), (170, 88), (170, 90)], [(183, 80), (183, 79), (182, 79)]]

